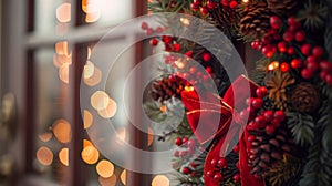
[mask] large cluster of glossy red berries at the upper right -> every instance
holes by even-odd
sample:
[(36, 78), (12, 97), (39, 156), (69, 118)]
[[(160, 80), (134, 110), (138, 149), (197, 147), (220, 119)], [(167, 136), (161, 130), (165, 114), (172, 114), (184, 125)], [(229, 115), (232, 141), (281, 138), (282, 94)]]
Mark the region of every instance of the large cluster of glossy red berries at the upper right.
[(287, 30), (281, 35), (278, 30), (283, 23), (277, 16), (270, 18), (268, 34), (261, 40), (253, 41), (251, 46), (263, 53), (267, 58), (272, 58), (279, 52), (283, 61), (279, 68), (282, 72), (288, 72), (291, 68), (299, 70), (301, 76), (310, 80), (317, 72), (328, 84), (332, 84), (332, 63), (325, 60), (325, 51), (320, 45), (312, 45), (305, 41), (305, 31), (301, 29), (301, 23), (295, 17), (287, 20)]

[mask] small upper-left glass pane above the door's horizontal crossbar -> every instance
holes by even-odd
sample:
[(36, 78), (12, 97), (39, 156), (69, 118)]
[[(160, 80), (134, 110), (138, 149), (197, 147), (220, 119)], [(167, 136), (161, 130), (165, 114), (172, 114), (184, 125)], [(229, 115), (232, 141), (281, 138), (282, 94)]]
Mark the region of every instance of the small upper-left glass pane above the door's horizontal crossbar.
[(34, 31), (64, 34), (71, 21), (71, 0), (35, 0)]

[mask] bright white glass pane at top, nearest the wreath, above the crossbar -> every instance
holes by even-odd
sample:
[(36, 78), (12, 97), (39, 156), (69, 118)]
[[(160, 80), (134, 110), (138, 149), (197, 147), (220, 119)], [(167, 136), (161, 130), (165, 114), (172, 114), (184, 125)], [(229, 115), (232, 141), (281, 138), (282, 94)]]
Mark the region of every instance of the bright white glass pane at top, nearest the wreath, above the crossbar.
[(134, 14), (133, 0), (82, 0), (85, 23), (117, 24)]

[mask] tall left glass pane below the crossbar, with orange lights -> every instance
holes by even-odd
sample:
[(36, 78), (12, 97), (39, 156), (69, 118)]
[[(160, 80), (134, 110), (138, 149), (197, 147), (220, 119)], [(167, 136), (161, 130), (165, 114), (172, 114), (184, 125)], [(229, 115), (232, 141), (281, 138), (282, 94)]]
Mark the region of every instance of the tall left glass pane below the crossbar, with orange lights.
[[(64, 45), (64, 44), (62, 44)], [(69, 144), (72, 125), (66, 120), (69, 107), (69, 62), (59, 63), (54, 49), (34, 53), (34, 153), (33, 168), (49, 180), (64, 183), (69, 174)], [(66, 56), (68, 58), (68, 56)], [(64, 72), (65, 71), (65, 72)]]

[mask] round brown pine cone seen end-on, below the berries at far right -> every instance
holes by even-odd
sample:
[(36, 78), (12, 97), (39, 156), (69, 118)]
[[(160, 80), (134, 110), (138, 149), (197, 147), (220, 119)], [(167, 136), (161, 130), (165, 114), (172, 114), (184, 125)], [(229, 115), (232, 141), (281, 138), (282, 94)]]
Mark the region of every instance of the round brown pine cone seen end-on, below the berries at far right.
[(299, 112), (311, 113), (321, 105), (320, 93), (311, 83), (300, 83), (290, 95), (291, 104)]

